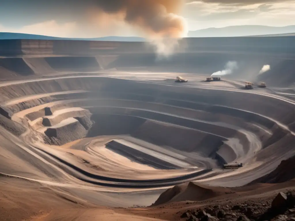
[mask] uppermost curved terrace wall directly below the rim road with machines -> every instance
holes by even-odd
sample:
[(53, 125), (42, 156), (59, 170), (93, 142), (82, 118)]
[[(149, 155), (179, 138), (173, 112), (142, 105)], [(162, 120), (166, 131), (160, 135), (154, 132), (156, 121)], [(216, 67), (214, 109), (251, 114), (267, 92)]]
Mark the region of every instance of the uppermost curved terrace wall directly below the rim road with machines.
[[(171, 88), (164, 85), (161, 85), (161, 88), (159, 88), (158, 85), (137, 83), (121, 79), (109, 79), (104, 77), (75, 77), (29, 82), (22, 85), (3, 86), (0, 88), (0, 90), (1, 93), (5, 95), (5, 97), (1, 96), (1, 102), (21, 96), (35, 95), (40, 93), (53, 93), (66, 90), (89, 90), (95, 93), (102, 92), (103, 94), (131, 93), (134, 94), (132, 95), (134, 98), (140, 97), (137, 95), (140, 91), (141, 94), (146, 96), (146, 101), (152, 101), (156, 98), (163, 97), (166, 100), (168, 99), (167, 102), (165, 102), (166, 104), (193, 109), (202, 109), (204, 111), (211, 110), (213, 113), (214, 111), (222, 111), (224, 113), (230, 111), (232, 114), (239, 114), (240, 116), (245, 115), (245, 113), (241, 115), (242, 113), (239, 110), (229, 109), (237, 108), (271, 117), (287, 125), (289, 123), (293, 123), (295, 117), (294, 105), (266, 96), (261, 99), (262, 95), (222, 90), (201, 90), (197, 88)], [(240, 99), (241, 96), (243, 96), (243, 99)], [(124, 97), (124, 95), (122, 95), (122, 97)], [(244, 102), (245, 100), (247, 100), (246, 103)], [(194, 102), (208, 103), (210, 105), (222, 105), (226, 107), (217, 106), (214, 107), (216, 108), (214, 110), (214, 108), (209, 108), (209, 106), (206, 105), (201, 107), (200, 104)], [(273, 111), (270, 112), (268, 110)], [(255, 121), (259, 121), (259, 123), (268, 128), (270, 128), (270, 126), (273, 124), (272, 122), (269, 122), (260, 116), (253, 115), (252, 113), (247, 113), (244, 117), (249, 119), (255, 117)]]

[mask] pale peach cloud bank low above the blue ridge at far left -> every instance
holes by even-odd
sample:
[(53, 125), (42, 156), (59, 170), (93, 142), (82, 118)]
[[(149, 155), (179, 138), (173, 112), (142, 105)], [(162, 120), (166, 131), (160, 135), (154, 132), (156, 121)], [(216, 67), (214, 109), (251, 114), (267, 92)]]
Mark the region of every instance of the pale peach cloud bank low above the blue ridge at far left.
[(77, 31), (76, 22), (57, 23), (55, 20), (25, 25), (21, 28), (0, 26), (0, 32), (17, 32), (24, 34), (40, 34), (58, 37), (72, 37)]

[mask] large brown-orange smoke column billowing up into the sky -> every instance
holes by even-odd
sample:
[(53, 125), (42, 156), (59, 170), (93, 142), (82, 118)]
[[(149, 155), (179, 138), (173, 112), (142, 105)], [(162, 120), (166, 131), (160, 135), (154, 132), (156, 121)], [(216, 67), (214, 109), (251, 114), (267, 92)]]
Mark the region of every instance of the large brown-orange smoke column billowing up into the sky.
[(142, 29), (163, 55), (171, 54), (178, 39), (187, 35), (186, 22), (178, 15), (183, 3), (183, 0), (96, 0), (99, 9), (123, 15), (125, 22)]

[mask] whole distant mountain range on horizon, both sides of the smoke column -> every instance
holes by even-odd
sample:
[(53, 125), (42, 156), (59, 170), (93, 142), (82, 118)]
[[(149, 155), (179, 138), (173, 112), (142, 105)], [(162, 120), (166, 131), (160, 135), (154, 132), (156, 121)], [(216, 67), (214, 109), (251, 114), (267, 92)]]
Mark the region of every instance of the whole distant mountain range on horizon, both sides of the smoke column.
[[(285, 27), (272, 27), (263, 25), (240, 25), (228, 26), (224, 28), (207, 28), (196, 31), (190, 31), (188, 37), (242, 37), (242, 36), (294, 36), (295, 25)], [(107, 36), (98, 38), (62, 38), (51, 37), (37, 34), (22, 34), (0, 32), (0, 39), (41, 39), (41, 40), (90, 40), (90, 41), (121, 41), (121, 42), (143, 42), (141, 37), (120, 37)]]

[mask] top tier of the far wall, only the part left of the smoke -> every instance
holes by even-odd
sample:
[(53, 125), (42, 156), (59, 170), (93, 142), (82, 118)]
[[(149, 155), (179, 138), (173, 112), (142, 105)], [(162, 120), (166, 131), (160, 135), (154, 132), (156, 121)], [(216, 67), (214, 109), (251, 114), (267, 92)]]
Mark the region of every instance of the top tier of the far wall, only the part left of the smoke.
[(0, 40), (0, 56), (22, 55), (69, 55), (89, 56), (125, 52), (153, 52), (142, 42), (107, 42), (84, 40)]

